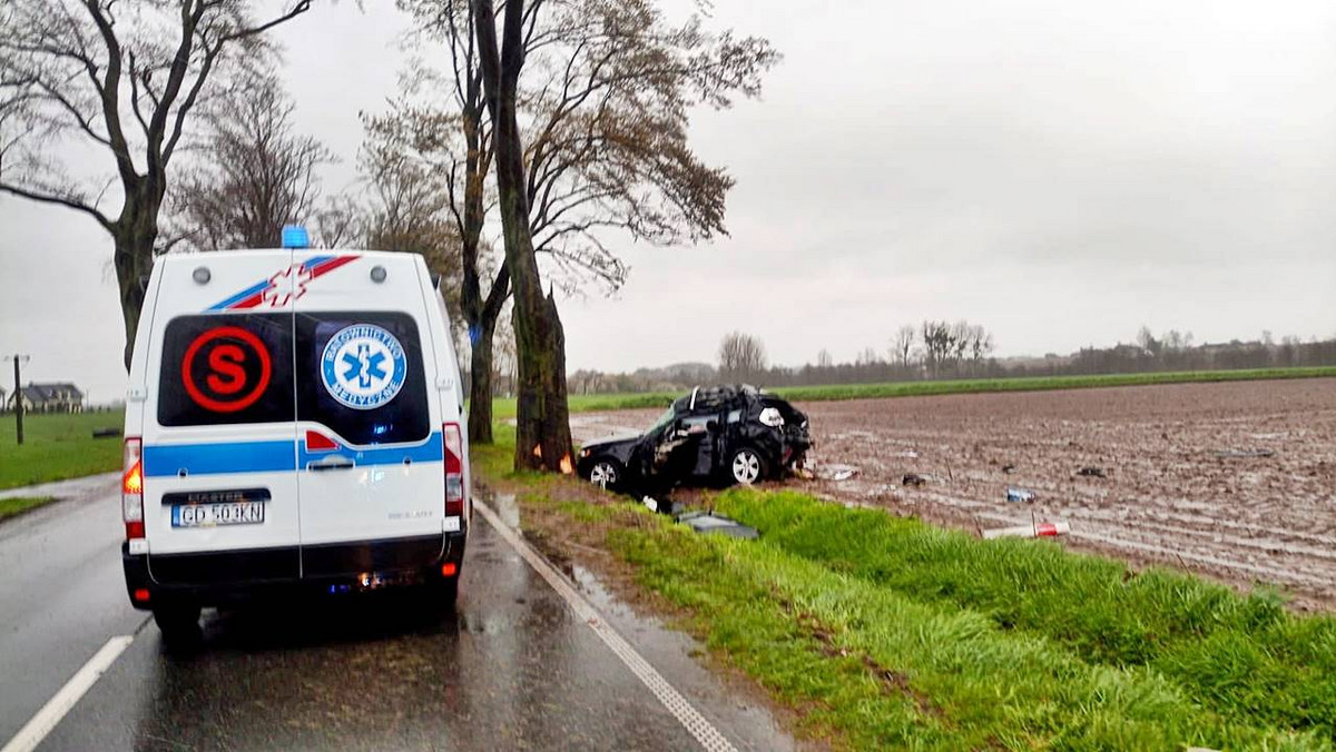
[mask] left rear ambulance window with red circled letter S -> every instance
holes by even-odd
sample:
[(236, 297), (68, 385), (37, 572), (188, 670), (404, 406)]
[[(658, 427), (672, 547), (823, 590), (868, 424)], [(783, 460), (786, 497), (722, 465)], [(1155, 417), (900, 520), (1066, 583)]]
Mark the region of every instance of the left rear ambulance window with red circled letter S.
[(291, 314), (179, 317), (163, 335), (158, 423), (293, 419)]

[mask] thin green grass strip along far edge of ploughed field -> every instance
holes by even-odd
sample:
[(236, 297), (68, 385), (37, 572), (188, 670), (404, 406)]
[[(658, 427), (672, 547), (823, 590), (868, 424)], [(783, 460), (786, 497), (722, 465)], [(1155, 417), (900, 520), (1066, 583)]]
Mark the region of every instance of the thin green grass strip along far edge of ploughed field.
[[(1331, 378), (1336, 367), (1249, 369), (1233, 371), (1173, 371), (1157, 374), (1106, 374), (1074, 377), (1034, 377), (955, 381), (906, 381), (891, 383), (852, 383), (836, 386), (790, 386), (774, 389), (795, 402), (830, 402), (838, 399), (879, 399), (887, 397), (925, 397), (934, 394), (975, 394), (987, 391), (1045, 391), (1059, 389), (1096, 389), (1105, 386), (1149, 386), (1156, 383), (1209, 383), (1225, 381), (1261, 381), (1291, 378)], [(572, 394), (572, 413), (667, 407), (681, 397), (679, 391), (644, 394)], [(514, 399), (497, 399), (493, 410), (498, 419), (514, 417)]]

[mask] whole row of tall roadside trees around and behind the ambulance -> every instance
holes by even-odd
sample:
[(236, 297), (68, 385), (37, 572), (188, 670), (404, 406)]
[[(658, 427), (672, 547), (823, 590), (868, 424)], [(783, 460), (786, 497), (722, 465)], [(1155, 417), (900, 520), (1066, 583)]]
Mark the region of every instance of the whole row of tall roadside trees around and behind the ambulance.
[[(259, 5), (5, 3), (0, 192), (73, 208), (112, 236), (127, 366), (155, 252), (273, 246), (294, 220), (325, 244), (422, 252), (465, 322), (470, 438), (492, 438), (493, 339), (509, 306), (516, 466), (568, 469), (554, 282), (619, 286), (613, 239), (725, 231), (732, 179), (691, 150), (688, 111), (755, 96), (778, 55), (699, 16), (672, 24), (652, 0), (399, 0), (418, 51), (448, 63), (414, 67), (390, 111), (366, 119), (366, 195), (322, 200), (315, 171), (335, 156), (293, 131), (266, 41), (311, 3)], [(119, 198), (52, 158), (87, 147), (111, 158)], [(199, 159), (168, 170), (187, 147)]]

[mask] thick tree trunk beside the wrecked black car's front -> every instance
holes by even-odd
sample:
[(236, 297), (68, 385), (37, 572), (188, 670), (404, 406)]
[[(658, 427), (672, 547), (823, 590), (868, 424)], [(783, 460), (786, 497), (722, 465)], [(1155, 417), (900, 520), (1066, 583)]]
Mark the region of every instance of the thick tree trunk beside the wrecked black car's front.
[[(533, 0), (538, 3), (541, 0)], [(530, 8), (530, 13), (537, 8)], [(506, 270), (514, 286), (514, 339), (520, 366), (516, 470), (570, 473), (570, 422), (566, 406), (565, 333), (550, 293), (544, 297), (529, 227), (524, 143), (516, 118), (516, 89), (524, 67), (525, 3), (508, 0), (497, 49), (492, 0), (473, 0), (474, 29), (488, 108)]]

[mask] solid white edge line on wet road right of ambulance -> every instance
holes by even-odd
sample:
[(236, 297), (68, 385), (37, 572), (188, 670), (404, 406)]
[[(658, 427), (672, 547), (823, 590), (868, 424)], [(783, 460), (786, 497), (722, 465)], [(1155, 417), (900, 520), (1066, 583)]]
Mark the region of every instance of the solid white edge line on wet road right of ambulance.
[[(570, 609), (576, 612), (576, 616), (582, 618), (584, 622), (589, 625), (589, 629), (593, 629), (593, 633), (597, 634), (605, 645), (608, 645), (608, 649), (612, 650), (615, 656), (621, 659), (621, 663), (631, 669), (631, 673), (636, 675), (636, 677), (655, 693), (655, 697), (659, 697), (659, 701), (664, 704), (664, 708), (667, 708), (668, 712), (672, 713), (673, 717), (676, 717), (677, 721), (681, 723), (688, 732), (691, 732), (692, 736), (696, 737), (696, 741), (700, 743), (701, 748), (708, 752), (736, 752), (732, 743), (728, 741), (728, 739), (724, 737), (724, 735), (720, 733), (713, 724), (705, 720), (705, 717), (701, 716), (696, 708), (693, 708), (691, 703), (688, 703), (687, 699), (673, 688), (672, 684), (668, 684), (668, 680), (655, 671), (655, 667), (649, 665), (649, 661), (643, 659), (640, 653), (631, 646), (631, 642), (627, 642), (621, 634), (617, 634), (617, 632), (607, 621), (604, 621), (599, 610), (593, 608), (574, 588), (572, 588), (570, 584), (566, 582), (566, 580), (558, 574), (545, 558), (534, 552), (529, 544), (524, 542), (524, 540), (514, 530), (504, 524), (492, 508), (480, 501), (474, 501), (473, 506), (481, 512), (482, 517), (492, 524), (496, 532), (500, 533), (501, 537), (505, 538), (505, 541), (510, 544), (510, 546), (518, 552), (526, 562), (529, 562), (529, 566), (546, 580), (548, 585), (552, 585), (552, 589), (556, 590), (557, 594), (565, 598), (566, 604), (570, 605)], [(8, 752), (8, 749), (3, 752)]]

